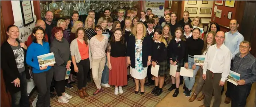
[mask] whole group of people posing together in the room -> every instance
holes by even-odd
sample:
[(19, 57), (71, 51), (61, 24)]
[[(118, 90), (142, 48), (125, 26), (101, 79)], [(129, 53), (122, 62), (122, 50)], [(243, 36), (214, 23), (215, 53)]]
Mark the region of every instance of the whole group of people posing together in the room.
[[(122, 87), (131, 75), (135, 94), (139, 91), (144, 94), (145, 85), (155, 85), (151, 93), (159, 96), (166, 76), (170, 76), (170, 65), (178, 66), (168, 89), (175, 89), (173, 97), (178, 96), (183, 80), (183, 93), (190, 97), (200, 71), (196, 91), (189, 101), (193, 102), (202, 91), (197, 98), (198, 101), (204, 99), (200, 107), (210, 107), (213, 95), (213, 107), (219, 107), (221, 90), (231, 70), (240, 74), (240, 80), (237, 86), (227, 82), (225, 103), (232, 100), (232, 107), (245, 106), (252, 83), (256, 81), (256, 59), (249, 52), (250, 42), (244, 41), (237, 30), (236, 19), (230, 21), (230, 32), (224, 33), (217, 23), (212, 23), (207, 34), (202, 34), (198, 28), (202, 27), (201, 18), (196, 16), (191, 20), (188, 11), (183, 12), (183, 19), (178, 22), (170, 8), (164, 8), (164, 16), (160, 18), (152, 14), (150, 8), (140, 12), (140, 19), (137, 8), (128, 10), (127, 17), (124, 12), (119, 9), (118, 19), (113, 21), (108, 8), (104, 10), (105, 17), (98, 20), (95, 12), (89, 11), (85, 22), (81, 22), (78, 11), (74, 11), (71, 17), (64, 16), (55, 22), (54, 14), (47, 11), (45, 20), (36, 21), (26, 44), (18, 40), (18, 27), (9, 26), (6, 32), (9, 38), (1, 47), (1, 68), (12, 95), (12, 106), (30, 105), (26, 91), (26, 79), (30, 79), (28, 66), (32, 67), (39, 93), (36, 106), (50, 107), (54, 91), (60, 103), (68, 103), (72, 98), (65, 93), (65, 87), (73, 88), (73, 74), (77, 75), (78, 96), (88, 97), (86, 83), (91, 81), (90, 72), (96, 85), (93, 95), (104, 91), (101, 86), (111, 85), (115, 86), (115, 95), (124, 93)], [(54, 53), (56, 63), (40, 67), (37, 56), (50, 52)], [(195, 65), (195, 55), (206, 55), (203, 66)], [(158, 76), (153, 76), (151, 68), (156, 65), (160, 66)], [(193, 77), (180, 76), (181, 67), (193, 69)], [(67, 69), (71, 69), (72, 74), (65, 80)]]

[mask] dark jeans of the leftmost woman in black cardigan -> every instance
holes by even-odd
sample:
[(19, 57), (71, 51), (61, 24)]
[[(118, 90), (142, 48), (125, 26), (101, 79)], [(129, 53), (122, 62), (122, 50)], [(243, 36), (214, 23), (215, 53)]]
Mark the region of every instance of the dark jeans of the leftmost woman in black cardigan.
[(23, 71), (20, 73), (20, 91), (12, 93), (12, 107), (30, 107), (29, 97), (27, 92), (28, 82), (26, 74)]

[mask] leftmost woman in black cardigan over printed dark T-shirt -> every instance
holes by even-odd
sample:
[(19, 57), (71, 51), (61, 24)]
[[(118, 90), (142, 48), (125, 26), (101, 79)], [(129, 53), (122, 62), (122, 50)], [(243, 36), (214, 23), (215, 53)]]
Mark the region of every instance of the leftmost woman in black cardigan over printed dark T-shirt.
[(30, 75), (25, 61), (27, 47), (18, 40), (17, 26), (10, 25), (6, 33), (8, 39), (1, 46), (1, 68), (6, 89), (12, 96), (12, 107), (29, 107), (26, 79), (30, 79)]

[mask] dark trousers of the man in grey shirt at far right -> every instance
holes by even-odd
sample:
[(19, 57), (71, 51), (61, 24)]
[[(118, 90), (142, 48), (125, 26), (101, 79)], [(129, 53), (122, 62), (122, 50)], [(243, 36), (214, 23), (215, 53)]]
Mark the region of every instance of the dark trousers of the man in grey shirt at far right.
[(230, 84), (231, 107), (245, 107), (246, 99), (250, 94), (252, 84), (234, 85)]

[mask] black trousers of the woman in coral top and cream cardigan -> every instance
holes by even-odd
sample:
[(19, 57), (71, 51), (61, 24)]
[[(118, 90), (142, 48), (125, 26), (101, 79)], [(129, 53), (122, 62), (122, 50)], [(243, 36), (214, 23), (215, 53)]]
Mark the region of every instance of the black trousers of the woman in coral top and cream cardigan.
[(78, 66), (78, 90), (81, 90), (83, 87), (86, 87), (87, 75), (90, 70), (90, 60), (89, 58), (80, 60), (76, 65)]

